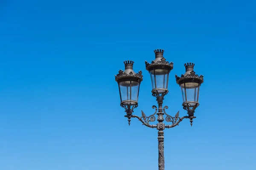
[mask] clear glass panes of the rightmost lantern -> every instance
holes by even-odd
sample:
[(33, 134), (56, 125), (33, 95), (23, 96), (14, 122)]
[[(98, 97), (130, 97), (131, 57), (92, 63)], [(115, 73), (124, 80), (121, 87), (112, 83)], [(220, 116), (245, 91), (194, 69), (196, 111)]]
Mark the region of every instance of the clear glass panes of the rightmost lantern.
[[(198, 102), (199, 98), (199, 83), (196, 82), (186, 82), (180, 85), (183, 102)], [(194, 106), (195, 103), (190, 103), (191, 106)]]

